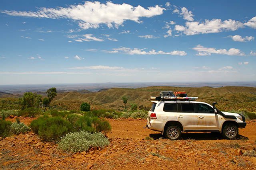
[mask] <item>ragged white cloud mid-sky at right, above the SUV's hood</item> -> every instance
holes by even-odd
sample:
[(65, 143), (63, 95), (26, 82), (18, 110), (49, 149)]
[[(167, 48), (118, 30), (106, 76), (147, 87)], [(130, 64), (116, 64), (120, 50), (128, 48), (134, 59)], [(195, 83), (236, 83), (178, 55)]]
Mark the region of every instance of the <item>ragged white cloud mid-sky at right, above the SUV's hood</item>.
[(244, 56), (245, 55), (239, 49), (234, 49), (234, 48), (231, 48), (229, 50), (226, 50), (226, 49), (216, 50), (215, 48), (207, 48), (207, 47), (204, 47), (202, 45), (197, 45), (196, 47), (194, 47), (192, 49), (198, 51), (197, 55), (199, 55), (199, 56), (211, 55), (212, 53), (213, 54), (222, 54), (222, 55), (238, 55), (238, 56)]

